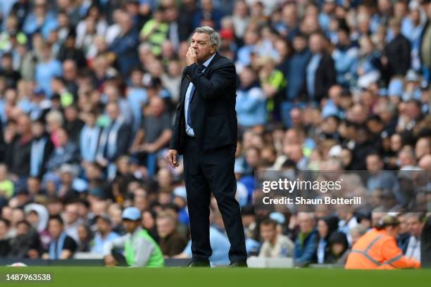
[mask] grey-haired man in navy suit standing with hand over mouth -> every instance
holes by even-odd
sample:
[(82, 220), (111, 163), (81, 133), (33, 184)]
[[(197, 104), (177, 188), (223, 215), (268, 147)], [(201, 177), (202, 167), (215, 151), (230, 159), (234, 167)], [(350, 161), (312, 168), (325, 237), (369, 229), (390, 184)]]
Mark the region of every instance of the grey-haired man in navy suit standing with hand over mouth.
[(215, 196), (230, 241), (232, 267), (246, 267), (246, 248), (234, 164), (237, 145), (235, 65), (217, 52), (220, 36), (211, 27), (194, 30), (182, 73), (168, 160), (184, 154), (187, 208), (192, 234), (192, 267), (208, 267), (209, 205)]

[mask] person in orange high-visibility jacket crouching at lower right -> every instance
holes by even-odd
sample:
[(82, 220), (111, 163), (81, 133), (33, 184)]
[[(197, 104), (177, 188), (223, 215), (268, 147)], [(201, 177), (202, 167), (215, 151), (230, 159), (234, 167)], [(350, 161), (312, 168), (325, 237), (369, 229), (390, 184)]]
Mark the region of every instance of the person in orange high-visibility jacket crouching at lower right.
[(368, 231), (351, 248), (345, 269), (419, 268), (420, 262), (408, 258), (396, 245), (399, 221), (385, 215), (377, 227)]

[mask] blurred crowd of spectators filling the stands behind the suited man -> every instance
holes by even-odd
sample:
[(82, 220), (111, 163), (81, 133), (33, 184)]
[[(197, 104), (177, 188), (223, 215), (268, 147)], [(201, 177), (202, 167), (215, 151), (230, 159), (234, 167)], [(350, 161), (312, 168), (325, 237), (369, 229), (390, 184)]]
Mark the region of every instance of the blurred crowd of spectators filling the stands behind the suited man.
[[(390, 200), (420, 260), (425, 210), (405, 213), (381, 171), (431, 171), (430, 20), (427, 0), (1, 0), (0, 257), (103, 256), (132, 206), (164, 257), (191, 256), (165, 155), (189, 37), (208, 25), (237, 69), (249, 255), (344, 262)], [(255, 210), (255, 170), (368, 170), (373, 209)], [(226, 264), (215, 200), (211, 223)]]

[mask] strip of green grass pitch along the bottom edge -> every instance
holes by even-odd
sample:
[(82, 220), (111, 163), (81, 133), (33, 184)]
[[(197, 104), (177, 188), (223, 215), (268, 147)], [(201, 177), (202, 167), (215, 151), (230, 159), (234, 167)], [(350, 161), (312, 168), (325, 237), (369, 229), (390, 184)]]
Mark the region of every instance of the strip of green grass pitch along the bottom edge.
[[(49, 282), (6, 282), (6, 274), (46, 274)], [(343, 269), (229, 269), (229, 268), (106, 268), (0, 267), (0, 286), (64, 287), (427, 287), (431, 269), (366, 271)]]

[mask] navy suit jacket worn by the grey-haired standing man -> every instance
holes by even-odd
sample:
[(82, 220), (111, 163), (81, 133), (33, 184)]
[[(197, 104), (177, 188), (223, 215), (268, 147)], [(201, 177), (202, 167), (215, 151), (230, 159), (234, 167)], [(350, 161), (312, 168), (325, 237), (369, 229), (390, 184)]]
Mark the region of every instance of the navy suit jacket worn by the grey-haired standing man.
[(190, 81), (196, 87), (190, 102), (190, 116), (194, 136), (201, 150), (236, 146), (237, 73), (232, 61), (216, 52), (203, 73), (199, 73), (197, 64), (187, 66), (182, 72), (180, 103), (177, 107), (169, 148), (177, 150), (180, 154), (184, 153), (185, 94)]

